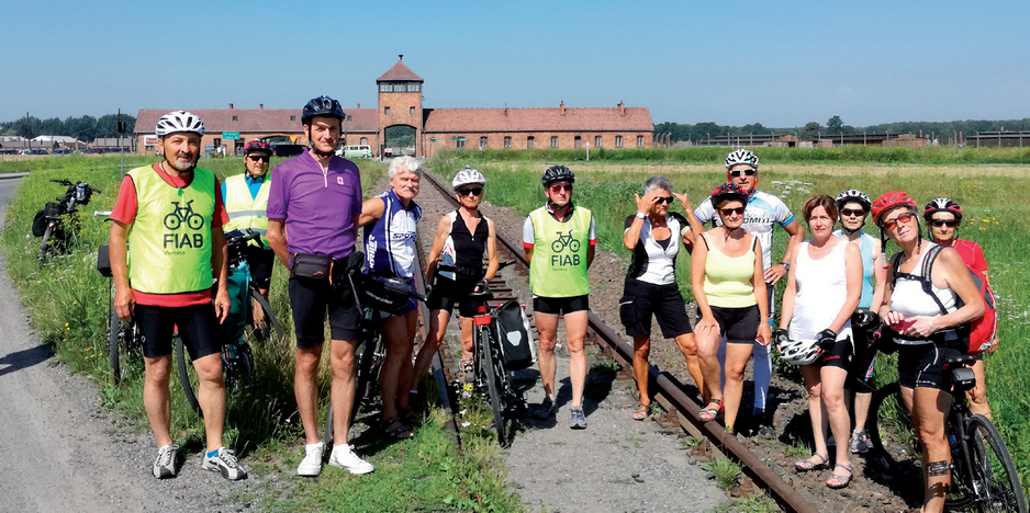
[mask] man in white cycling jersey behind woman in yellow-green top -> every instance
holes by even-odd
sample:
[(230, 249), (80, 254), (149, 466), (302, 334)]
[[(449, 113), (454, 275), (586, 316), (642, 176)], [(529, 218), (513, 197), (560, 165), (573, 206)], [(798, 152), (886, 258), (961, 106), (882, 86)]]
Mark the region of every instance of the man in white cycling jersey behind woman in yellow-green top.
[[(769, 294), (769, 322), (772, 323), (775, 311), (772, 285), (786, 276), (790, 270), (790, 264), (786, 262), (781, 261), (772, 265), (773, 229), (779, 225), (791, 237), (784, 254), (790, 254), (795, 246), (804, 241), (805, 229), (794, 219), (794, 214), (782, 200), (755, 189), (758, 186), (758, 156), (754, 152), (742, 148), (730, 151), (726, 156), (726, 179), (750, 195), (743, 214), (742, 227), (758, 237), (762, 243), (762, 266), (765, 269), (765, 283), (770, 285), (765, 287)], [(708, 221), (719, 224), (719, 216), (716, 215), (710, 198), (698, 205), (694, 209), (694, 215), (702, 224)], [(754, 344), (751, 354), (754, 356), (754, 415), (758, 417), (765, 411), (769, 383), (772, 379), (772, 355), (769, 353), (769, 346), (759, 343)]]

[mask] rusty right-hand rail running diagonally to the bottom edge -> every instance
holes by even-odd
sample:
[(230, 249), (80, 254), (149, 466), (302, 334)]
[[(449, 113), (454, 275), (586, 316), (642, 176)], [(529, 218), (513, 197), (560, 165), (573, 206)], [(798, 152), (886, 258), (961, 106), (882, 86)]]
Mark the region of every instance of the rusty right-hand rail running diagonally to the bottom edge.
[[(457, 207), (458, 202), (454, 198), (448, 186), (426, 172), (423, 174), (425, 182), (435, 187), (441, 196), (448, 198)], [(517, 261), (519, 266), (528, 271), (528, 263), (522, 251), (522, 244), (518, 241), (510, 239), (504, 233), (497, 232), (497, 241), (501, 247), (507, 250)], [(501, 248), (499, 248), (501, 249)], [(511, 287), (507, 287), (503, 281), (492, 285), (495, 296), (501, 298), (514, 297)], [(593, 340), (607, 354), (611, 354), (623, 368), (632, 367), (632, 344), (618, 335), (618, 333), (604, 322), (594, 312), (589, 316), (587, 340)], [(680, 426), (698, 440), (707, 440), (712, 447), (719, 453), (737, 459), (742, 465), (743, 472), (750, 477), (759, 487), (764, 489), (781, 508), (785, 511), (796, 511), (803, 513), (817, 513), (820, 511), (815, 505), (806, 501), (791, 485), (785, 482), (776, 472), (774, 472), (762, 459), (761, 456), (751, 453), (744, 444), (737, 440), (732, 433), (727, 433), (721, 424), (712, 422), (701, 422), (697, 414), (701, 406), (691, 400), (684, 392), (680, 381), (675, 376), (660, 372), (654, 366), (650, 367), (650, 378), (653, 380), (651, 390), (654, 391), (656, 399), (662, 407), (671, 413), (675, 413), (675, 420)], [(439, 378), (438, 378), (439, 379)]]

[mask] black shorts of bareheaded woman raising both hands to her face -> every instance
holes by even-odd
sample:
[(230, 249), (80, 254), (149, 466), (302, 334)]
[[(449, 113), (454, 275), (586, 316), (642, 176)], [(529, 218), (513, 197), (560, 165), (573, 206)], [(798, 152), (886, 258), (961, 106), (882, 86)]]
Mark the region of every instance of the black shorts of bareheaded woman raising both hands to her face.
[(691, 332), (691, 319), (675, 283), (654, 285), (627, 277), (623, 298), (618, 300), (618, 318), (626, 334), (635, 339), (650, 338), (651, 315), (658, 319), (662, 337), (667, 339)]

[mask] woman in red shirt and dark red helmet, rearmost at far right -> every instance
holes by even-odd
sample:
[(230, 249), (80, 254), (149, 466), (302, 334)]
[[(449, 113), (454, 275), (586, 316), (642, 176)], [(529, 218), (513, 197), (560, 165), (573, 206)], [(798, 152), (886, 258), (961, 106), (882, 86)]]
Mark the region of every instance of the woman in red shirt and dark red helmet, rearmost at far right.
[[(945, 248), (954, 248), (965, 262), (965, 266), (983, 274), (989, 286), (990, 278), (987, 276), (987, 260), (984, 258), (984, 250), (976, 242), (959, 238), (959, 226), (962, 225), (962, 208), (959, 204), (947, 197), (939, 197), (927, 203), (926, 209), (922, 210), (922, 218), (930, 225), (930, 236), (933, 242)], [(987, 351), (994, 353), (997, 349), (998, 339), (995, 338)], [(976, 362), (973, 364), (973, 373), (976, 375), (976, 386), (966, 392), (970, 411), (974, 415), (990, 419), (990, 404), (987, 403), (987, 386), (984, 380), (984, 353), (976, 354), (974, 357)]]

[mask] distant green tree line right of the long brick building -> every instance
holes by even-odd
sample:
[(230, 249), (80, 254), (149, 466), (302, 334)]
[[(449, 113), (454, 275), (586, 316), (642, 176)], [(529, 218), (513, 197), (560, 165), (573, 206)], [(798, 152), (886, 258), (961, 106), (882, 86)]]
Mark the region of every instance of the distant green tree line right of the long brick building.
[(826, 125), (819, 122), (808, 122), (805, 126), (766, 128), (761, 123), (753, 123), (743, 126), (718, 125), (713, 122), (697, 123), (694, 125), (682, 123), (659, 123), (654, 125), (654, 140), (669, 140), (675, 142), (680, 140), (705, 140), (718, 136), (741, 136), (748, 134), (797, 134), (802, 139), (816, 139), (820, 135), (827, 134), (873, 134), (885, 133), (911, 133), (918, 135), (922, 132), (923, 136), (931, 134), (937, 138), (947, 139), (958, 133), (971, 135), (976, 132), (997, 132), (997, 130), (1030, 130), (1030, 118), (1022, 119), (965, 119), (952, 122), (903, 122), (903, 123), (883, 123), (866, 127), (854, 127), (846, 125), (840, 116), (833, 116), (827, 119)]

